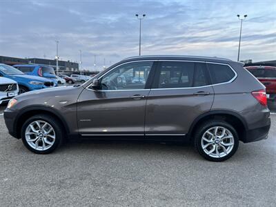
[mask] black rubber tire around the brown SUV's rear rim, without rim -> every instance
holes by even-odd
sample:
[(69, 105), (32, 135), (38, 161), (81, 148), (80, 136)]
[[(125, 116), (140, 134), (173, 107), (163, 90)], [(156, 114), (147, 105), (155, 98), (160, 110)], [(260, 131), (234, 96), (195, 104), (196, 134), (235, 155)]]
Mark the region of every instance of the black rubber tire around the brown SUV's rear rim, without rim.
[[(219, 158), (210, 157), (209, 155), (207, 155), (204, 152), (204, 150), (201, 147), (201, 137), (204, 135), (204, 132), (206, 132), (206, 130), (208, 130), (208, 128), (212, 128), (214, 126), (222, 126), (224, 128), (227, 128), (228, 130), (230, 130), (230, 132), (232, 133), (232, 135), (234, 137), (233, 149), (225, 157), (219, 157)], [(235, 128), (233, 128), (233, 126), (228, 124), (226, 121), (216, 121), (216, 120), (207, 121), (206, 123), (202, 124), (198, 128), (197, 132), (195, 133), (195, 148), (197, 149), (197, 151), (199, 152), (199, 154), (202, 157), (204, 157), (205, 159), (207, 159), (209, 161), (224, 161), (226, 159), (229, 159), (230, 157), (232, 157), (235, 154), (238, 147), (239, 147), (239, 135), (237, 134), (237, 131), (235, 130)]]

